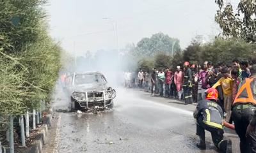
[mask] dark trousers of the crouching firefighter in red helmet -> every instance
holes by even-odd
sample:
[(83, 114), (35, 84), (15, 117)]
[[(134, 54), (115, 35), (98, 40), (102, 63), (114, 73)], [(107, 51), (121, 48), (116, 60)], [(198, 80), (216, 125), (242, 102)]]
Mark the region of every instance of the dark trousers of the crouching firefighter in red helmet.
[(216, 147), (223, 140), (223, 129), (212, 128), (211, 126), (207, 126), (204, 124), (202, 118), (197, 119), (196, 123), (196, 135), (200, 136), (203, 140), (205, 140), (205, 130), (209, 131), (212, 135), (212, 142)]

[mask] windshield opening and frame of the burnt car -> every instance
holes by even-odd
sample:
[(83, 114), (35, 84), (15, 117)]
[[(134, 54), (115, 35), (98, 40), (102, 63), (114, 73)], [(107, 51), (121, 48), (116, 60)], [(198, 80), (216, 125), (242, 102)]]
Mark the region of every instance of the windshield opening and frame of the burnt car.
[(76, 74), (74, 76), (74, 85), (89, 85), (89, 84), (106, 84), (106, 78), (97, 73)]

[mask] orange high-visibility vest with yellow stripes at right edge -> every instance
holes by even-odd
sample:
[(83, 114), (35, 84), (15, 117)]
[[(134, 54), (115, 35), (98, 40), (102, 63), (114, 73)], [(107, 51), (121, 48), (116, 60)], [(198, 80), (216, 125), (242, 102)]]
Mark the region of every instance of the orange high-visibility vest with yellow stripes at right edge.
[(233, 105), (235, 103), (252, 103), (253, 105), (256, 105), (256, 95), (253, 94), (253, 86), (255, 85), (253, 81), (254, 79), (256, 78), (246, 78), (243, 81), (243, 84), (236, 94)]

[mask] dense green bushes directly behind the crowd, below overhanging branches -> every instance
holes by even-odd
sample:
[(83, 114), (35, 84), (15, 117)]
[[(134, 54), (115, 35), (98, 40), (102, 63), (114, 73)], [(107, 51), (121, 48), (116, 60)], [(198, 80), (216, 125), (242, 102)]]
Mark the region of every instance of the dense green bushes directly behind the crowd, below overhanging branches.
[[(182, 61), (189, 61), (193, 64), (202, 64), (204, 61), (212, 61), (214, 64), (223, 62), (231, 64), (234, 58), (255, 59), (255, 44), (246, 43), (243, 40), (230, 39), (216, 40), (200, 45), (191, 43), (184, 51)], [(179, 57), (174, 57), (172, 63), (179, 62)]]

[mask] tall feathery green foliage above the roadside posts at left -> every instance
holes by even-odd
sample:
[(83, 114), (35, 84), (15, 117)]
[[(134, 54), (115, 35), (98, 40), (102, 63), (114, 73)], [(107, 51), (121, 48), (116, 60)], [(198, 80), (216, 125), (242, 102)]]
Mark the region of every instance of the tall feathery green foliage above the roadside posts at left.
[(40, 100), (49, 101), (56, 84), (61, 47), (48, 34), (46, 3), (0, 1), (1, 130), (8, 126), (4, 123), (9, 115), (22, 115), (40, 108)]

